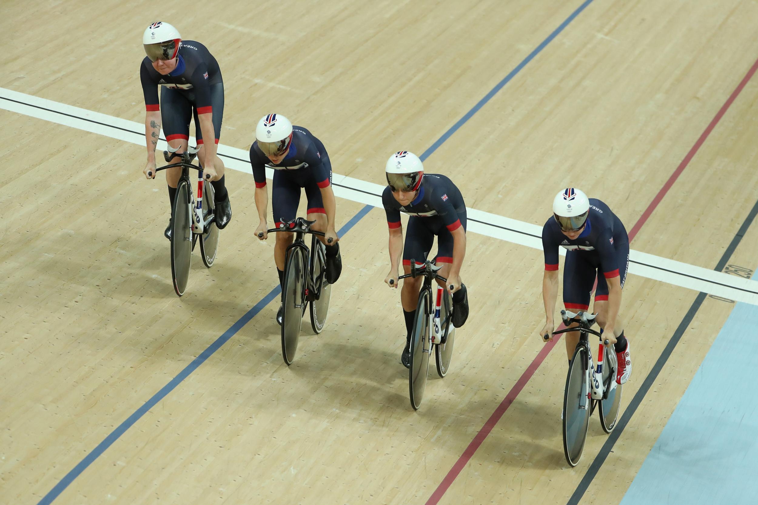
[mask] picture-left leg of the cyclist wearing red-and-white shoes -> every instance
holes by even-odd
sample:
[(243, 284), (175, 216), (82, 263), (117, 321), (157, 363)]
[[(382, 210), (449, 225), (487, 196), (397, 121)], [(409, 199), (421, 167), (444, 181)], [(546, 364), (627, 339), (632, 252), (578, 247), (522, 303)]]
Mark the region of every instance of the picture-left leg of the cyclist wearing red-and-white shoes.
[[(585, 251), (566, 251), (563, 265), (563, 305), (567, 310), (578, 312), (590, 308), (590, 296), (595, 282), (594, 254)], [(577, 326), (575, 323), (571, 327)], [(579, 342), (578, 332), (565, 333), (566, 354), (571, 360)]]

